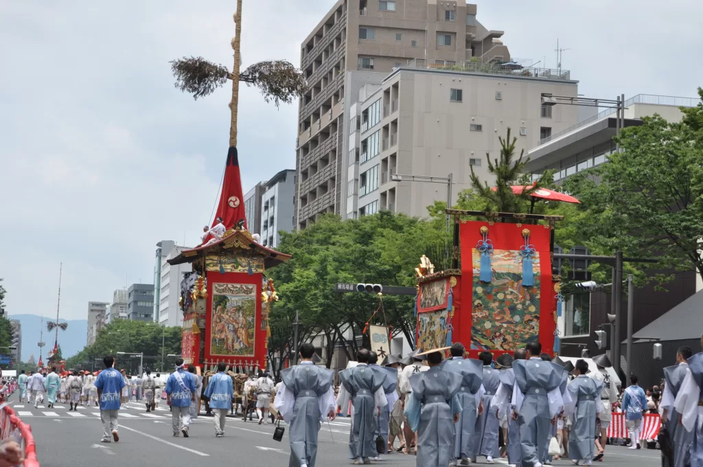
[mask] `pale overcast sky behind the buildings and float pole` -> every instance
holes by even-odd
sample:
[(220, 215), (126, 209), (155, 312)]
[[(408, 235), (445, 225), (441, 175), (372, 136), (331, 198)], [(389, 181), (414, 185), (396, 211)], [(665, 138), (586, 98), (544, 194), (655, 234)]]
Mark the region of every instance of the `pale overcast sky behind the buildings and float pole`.
[[(335, 1), (244, 3), (243, 68), (299, 65), (299, 44)], [(514, 57), (553, 68), (559, 37), (571, 49), (562, 68), (586, 96), (693, 97), (703, 84), (702, 2), (477, 4)], [(168, 62), (195, 55), (231, 67), (234, 8), (0, 2), (0, 278), (10, 314), (55, 314), (63, 262), (61, 316), (85, 319), (89, 300), (153, 282), (155, 243), (197, 243), (224, 167), (230, 91), (193, 101), (173, 87)], [(297, 106), (276, 110), (245, 86), (239, 105), (246, 192), (295, 168)]]

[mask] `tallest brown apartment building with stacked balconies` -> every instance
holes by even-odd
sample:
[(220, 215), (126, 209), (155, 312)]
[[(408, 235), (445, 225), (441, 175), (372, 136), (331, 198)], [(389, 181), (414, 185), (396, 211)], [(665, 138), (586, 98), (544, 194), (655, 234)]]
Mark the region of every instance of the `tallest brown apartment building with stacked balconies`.
[[(465, 0), (339, 0), (302, 44), (301, 69), (310, 84), (299, 102), (294, 225), (344, 207), (349, 107), (369, 82), (380, 84), (413, 58), (510, 60), (502, 31), (476, 19)], [(352, 96), (352, 99), (349, 98)]]

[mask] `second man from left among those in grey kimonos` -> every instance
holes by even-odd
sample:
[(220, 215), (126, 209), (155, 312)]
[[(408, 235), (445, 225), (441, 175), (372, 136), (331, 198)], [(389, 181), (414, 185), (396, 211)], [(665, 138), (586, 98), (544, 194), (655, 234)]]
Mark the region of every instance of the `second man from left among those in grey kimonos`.
[(354, 464), (370, 463), (370, 458), (378, 456), (375, 434), (376, 420), (382, 407), (387, 404), (383, 383), (387, 373), (368, 366), (370, 352), (360, 349), (356, 352), (358, 366), (340, 371), (340, 392), (337, 405), (349, 407), (352, 400), (352, 430), (349, 432), (349, 459)]

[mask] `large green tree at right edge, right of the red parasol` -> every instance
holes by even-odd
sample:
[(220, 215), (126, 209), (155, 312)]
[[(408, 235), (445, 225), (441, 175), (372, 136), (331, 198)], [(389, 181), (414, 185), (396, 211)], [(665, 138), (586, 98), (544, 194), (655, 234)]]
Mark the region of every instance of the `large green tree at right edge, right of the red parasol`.
[(587, 214), (576, 238), (594, 250), (656, 258), (662, 269), (693, 269), (703, 278), (701, 122), (701, 105), (686, 109), (680, 123), (645, 117), (621, 132), (623, 152), (567, 180), (565, 189)]

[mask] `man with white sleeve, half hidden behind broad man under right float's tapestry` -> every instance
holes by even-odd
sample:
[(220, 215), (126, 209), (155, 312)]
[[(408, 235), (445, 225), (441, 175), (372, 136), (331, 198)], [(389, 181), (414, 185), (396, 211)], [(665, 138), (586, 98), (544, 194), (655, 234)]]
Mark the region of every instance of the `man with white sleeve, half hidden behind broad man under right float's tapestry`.
[[(517, 428), (517, 421), (512, 419), (510, 409), (510, 399), (512, 399), (512, 388), (515, 385), (515, 373), (512, 370), (512, 362), (524, 360), (527, 351), (517, 349), (513, 352), (513, 359), (508, 359), (510, 354), (503, 354), (496, 359), (496, 363), (505, 368), (500, 371), (501, 384), (498, 386), (496, 395), (491, 400), (491, 405), (498, 409), (498, 418), (503, 416), (508, 418), (508, 440), (505, 442), (508, 452), (508, 465), (517, 466), (522, 462), (522, 452), (520, 450), (520, 430)], [(509, 363), (508, 363), (509, 362)]]

